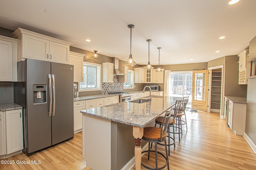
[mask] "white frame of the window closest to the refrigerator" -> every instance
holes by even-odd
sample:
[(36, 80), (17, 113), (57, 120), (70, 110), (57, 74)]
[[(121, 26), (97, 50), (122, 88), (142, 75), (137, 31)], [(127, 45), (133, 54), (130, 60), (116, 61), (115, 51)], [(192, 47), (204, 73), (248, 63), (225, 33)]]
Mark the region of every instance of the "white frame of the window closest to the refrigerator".
[[(101, 86), (102, 86), (102, 64), (96, 64), (96, 63), (89, 63), (89, 62), (83, 62), (83, 69), (84, 69), (84, 64), (89, 65), (89, 66), (96, 66), (96, 88), (89, 88), (89, 89), (81, 89), (80, 88), (80, 83), (78, 85), (78, 92), (89, 92), (89, 91), (101, 91)], [(84, 70), (83, 70), (84, 71)], [(85, 80), (85, 78), (84, 78)]]

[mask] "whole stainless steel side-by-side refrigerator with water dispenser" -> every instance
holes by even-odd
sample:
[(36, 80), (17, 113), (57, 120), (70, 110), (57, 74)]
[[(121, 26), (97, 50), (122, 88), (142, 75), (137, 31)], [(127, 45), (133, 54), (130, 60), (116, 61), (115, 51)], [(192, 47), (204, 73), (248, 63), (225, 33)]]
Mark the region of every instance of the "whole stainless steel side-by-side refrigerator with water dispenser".
[(15, 102), (23, 106), (27, 155), (74, 137), (73, 65), (18, 62)]

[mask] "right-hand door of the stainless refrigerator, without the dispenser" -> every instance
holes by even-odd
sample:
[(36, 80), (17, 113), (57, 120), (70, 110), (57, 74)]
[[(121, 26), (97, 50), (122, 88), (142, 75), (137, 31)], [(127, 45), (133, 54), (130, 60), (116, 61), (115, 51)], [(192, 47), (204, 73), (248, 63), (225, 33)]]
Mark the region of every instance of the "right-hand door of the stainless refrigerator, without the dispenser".
[(74, 137), (74, 69), (73, 65), (51, 63), (51, 70), (52, 145), (55, 145)]

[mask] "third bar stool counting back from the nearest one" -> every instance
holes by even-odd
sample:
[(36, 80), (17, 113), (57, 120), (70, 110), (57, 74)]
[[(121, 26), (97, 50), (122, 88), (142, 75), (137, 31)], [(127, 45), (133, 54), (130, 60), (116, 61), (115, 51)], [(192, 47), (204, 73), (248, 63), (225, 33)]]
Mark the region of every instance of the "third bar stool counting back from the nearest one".
[[(186, 106), (188, 104), (188, 100), (178, 100), (180, 102), (180, 106), (178, 108), (175, 108), (175, 109), (178, 109), (177, 110), (177, 115), (176, 115), (176, 128), (178, 128), (178, 131), (179, 132), (170, 132), (170, 133), (174, 133), (174, 134), (179, 134), (179, 141), (180, 141), (180, 134), (182, 135), (182, 125), (186, 124), (187, 125), (187, 122), (186, 121)], [(181, 120), (182, 116), (185, 115), (185, 121)], [(171, 115), (173, 116), (173, 115)], [(182, 121), (184, 122), (182, 124)], [(177, 123), (178, 123), (178, 127), (177, 127)], [(188, 129), (188, 128), (187, 128)]]

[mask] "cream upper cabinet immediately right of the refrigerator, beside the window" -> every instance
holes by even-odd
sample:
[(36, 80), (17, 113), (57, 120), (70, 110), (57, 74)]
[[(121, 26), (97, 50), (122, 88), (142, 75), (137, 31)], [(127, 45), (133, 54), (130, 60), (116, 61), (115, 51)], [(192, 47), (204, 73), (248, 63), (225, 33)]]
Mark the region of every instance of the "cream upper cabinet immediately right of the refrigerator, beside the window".
[(69, 64), (74, 65), (74, 82), (83, 82), (84, 54), (69, 52)]

